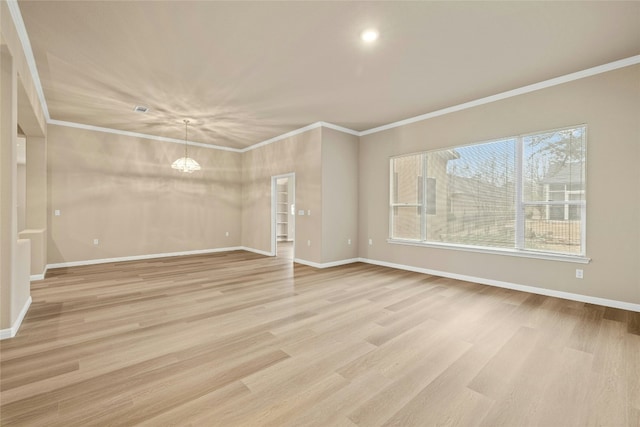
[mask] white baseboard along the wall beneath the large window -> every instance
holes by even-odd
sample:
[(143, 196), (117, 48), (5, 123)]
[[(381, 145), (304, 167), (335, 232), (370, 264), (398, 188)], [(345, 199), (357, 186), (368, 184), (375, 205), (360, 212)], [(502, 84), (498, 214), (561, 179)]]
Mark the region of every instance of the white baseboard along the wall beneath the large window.
[(625, 302), (625, 301), (617, 301), (617, 300), (611, 300), (606, 298), (592, 297), (588, 295), (574, 294), (571, 292), (555, 291), (553, 289), (537, 288), (534, 286), (518, 285), (515, 283), (503, 282), (500, 280), (485, 279), (482, 277), (467, 276), (464, 274), (449, 273), (446, 271), (431, 270), (428, 268), (413, 267), (410, 265), (396, 264), (392, 262), (378, 261), (378, 260), (367, 259), (367, 258), (359, 258), (358, 261), (364, 262), (367, 264), (380, 265), (382, 267), (397, 268), (399, 270), (413, 271), (416, 273), (423, 273), (423, 274), (431, 274), (434, 276), (447, 277), (447, 278), (456, 279), (456, 280), (464, 280), (465, 282), (479, 283), (482, 285), (496, 286), (496, 287), (505, 288), (505, 289), (513, 289), (515, 291), (529, 292), (537, 295), (545, 295), (545, 296), (554, 297), (554, 298), (562, 298), (562, 299), (567, 299), (571, 301), (586, 302), (589, 304), (596, 304), (596, 305), (601, 305), (605, 307), (613, 307), (613, 308), (619, 308), (622, 310), (640, 312), (640, 304), (634, 304), (634, 303)]

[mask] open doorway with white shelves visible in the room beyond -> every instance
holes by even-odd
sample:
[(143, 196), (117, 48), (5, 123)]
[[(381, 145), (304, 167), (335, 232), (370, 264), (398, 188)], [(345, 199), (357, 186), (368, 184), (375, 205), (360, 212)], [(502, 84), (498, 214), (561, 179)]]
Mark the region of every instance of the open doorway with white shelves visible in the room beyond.
[(293, 260), (296, 235), (295, 173), (272, 177), (271, 192), (271, 252), (279, 258)]

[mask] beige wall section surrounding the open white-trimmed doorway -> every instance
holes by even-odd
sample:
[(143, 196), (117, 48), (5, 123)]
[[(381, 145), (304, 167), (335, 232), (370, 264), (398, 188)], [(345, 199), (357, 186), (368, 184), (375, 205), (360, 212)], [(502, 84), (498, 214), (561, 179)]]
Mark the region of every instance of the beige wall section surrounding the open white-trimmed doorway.
[(321, 129), (247, 151), (242, 159), (242, 245), (271, 252), (271, 177), (295, 173), (296, 211), (305, 210), (295, 220), (295, 257), (322, 262)]

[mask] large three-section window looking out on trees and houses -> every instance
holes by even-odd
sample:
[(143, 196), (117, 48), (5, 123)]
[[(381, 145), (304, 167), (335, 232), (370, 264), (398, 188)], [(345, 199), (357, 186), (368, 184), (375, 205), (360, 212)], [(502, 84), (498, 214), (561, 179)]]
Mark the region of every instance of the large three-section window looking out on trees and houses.
[(584, 256), (586, 127), (391, 158), (395, 241)]

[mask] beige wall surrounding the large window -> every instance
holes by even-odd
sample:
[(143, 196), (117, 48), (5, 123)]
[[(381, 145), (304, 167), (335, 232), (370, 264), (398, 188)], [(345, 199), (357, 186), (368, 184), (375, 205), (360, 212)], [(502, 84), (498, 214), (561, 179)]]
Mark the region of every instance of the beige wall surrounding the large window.
[[(361, 138), (360, 256), (640, 303), (640, 66), (627, 67)], [(386, 242), (389, 157), (588, 125), (588, 265)], [(374, 244), (369, 246), (367, 239)], [(575, 278), (576, 268), (584, 279)]]

